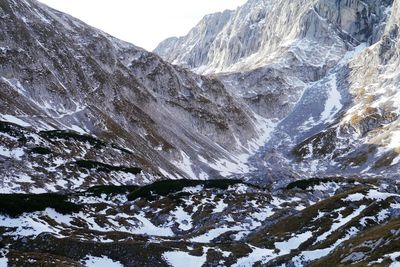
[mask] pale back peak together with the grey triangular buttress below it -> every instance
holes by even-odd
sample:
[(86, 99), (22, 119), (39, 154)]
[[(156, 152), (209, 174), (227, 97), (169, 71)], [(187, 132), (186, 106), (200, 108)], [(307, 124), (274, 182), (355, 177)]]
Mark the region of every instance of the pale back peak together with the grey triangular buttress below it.
[(248, 1), (214, 39), (207, 37), (212, 45), (190, 37), (209, 31), (203, 23), (155, 52), (196, 72), (218, 73), (259, 115), (282, 119), (348, 51), (380, 38), (390, 7), (391, 1)]

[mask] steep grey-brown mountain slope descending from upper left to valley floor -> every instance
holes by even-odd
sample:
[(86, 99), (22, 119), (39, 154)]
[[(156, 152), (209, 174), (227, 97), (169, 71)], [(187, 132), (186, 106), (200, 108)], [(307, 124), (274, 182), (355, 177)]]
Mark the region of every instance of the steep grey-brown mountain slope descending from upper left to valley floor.
[[(2, 120), (35, 136), (49, 130), (90, 134), (132, 153), (129, 160), (113, 154), (106, 160), (82, 148), (72, 158), (53, 155), (56, 168), (92, 160), (140, 167), (151, 180), (218, 177), (245, 171), (245, 156), (237, 155), (251, 153), (266, 134), (264, 121), (214, 78), (173, 67), (35, 1), (1, 1), (0, 13)], [(36, 163), (21, 168), (21, 160), (32, 157), (27, 151), (39, 143), (2, 135), (0, 157), (12, 165), (9, 179), (56, 175)], [(10, 155), (14, 150), (23, 155)]]

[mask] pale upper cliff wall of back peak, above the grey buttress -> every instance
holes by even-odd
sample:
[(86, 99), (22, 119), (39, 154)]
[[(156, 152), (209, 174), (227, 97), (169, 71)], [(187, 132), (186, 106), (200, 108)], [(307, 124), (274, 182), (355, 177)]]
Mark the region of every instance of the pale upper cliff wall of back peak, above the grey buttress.
[[(330, 56), (333, 57), (347, 50), (343, 47), (346, 44), (376, 42), (391, 2), (251, 0), (231, 12), (230, 19), (227, 12), (205, 17), (179, 42), (167, 40), (155, 52), (200, 73), (252, 70), (277, 56), (282, 58), (282, 53), (300, 40), (310, 41), (307, 45), (314, 53), (318, 47), (313, 47), (312, 41), (318, 42), (319, 47), (336, 47)], [(220, 22), (210, 29), (216, 16)], [(193, 36), (197, 36), (196, 41)]]

